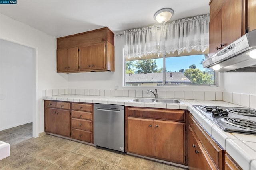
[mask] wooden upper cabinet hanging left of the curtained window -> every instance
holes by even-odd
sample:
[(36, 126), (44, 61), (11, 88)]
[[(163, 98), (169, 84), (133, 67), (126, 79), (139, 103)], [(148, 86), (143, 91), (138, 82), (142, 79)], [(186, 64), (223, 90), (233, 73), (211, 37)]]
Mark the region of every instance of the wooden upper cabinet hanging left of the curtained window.
[(57, 72), (114, 71), (114, 33), (108, 27), (57, 38)]

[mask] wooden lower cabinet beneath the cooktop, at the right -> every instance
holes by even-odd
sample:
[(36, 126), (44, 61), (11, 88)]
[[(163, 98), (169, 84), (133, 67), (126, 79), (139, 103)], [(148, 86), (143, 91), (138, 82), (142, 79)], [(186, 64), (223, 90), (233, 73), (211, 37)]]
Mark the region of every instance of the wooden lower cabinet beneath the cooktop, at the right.
[(188, 167), (191, 170), (222, 170), (224, 150), (196, 119), (188, 116)]

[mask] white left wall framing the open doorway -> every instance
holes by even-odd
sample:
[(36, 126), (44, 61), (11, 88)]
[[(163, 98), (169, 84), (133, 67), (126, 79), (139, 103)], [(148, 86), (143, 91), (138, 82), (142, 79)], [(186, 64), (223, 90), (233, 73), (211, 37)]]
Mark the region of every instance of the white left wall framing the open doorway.
[[(33, 136), (38, 136), (38, 133), (44, 131), (42, 91), (68, 88), (68, 74), (56, 73), (56, 38), (2, 14), (0, 14), (0, 38), (32, 47), (36, 51), (36, 100), (34, 101), (36, 108), (33, 114), (39, 114), (39, 117), (33, 117), (33, 122), (38, 122), (37, 127), (35, 123), (33, 125)], [(34, 134), (35, 129), (37, 134)]]

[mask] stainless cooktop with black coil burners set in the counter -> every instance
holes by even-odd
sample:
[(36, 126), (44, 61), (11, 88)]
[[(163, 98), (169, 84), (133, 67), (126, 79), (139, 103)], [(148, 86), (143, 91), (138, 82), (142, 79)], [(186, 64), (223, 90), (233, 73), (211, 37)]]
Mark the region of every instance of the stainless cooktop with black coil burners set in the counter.
[(255, 109), (201, 105), (193, 107), (226, 132), (256, 135)]

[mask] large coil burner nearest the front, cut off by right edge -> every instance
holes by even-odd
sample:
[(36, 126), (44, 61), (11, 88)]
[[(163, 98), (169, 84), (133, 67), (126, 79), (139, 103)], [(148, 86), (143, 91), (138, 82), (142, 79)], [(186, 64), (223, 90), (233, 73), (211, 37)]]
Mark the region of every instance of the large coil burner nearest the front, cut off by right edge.
[(256, 130), (256, 121), (248, 120), (248, 119), (240, 119), (235, 117), (224, 117), (221, 119), (223, 122), (228, 123), (230, 125), (241, 127), (250, 130)]

